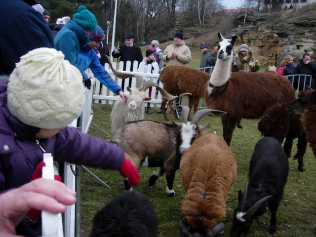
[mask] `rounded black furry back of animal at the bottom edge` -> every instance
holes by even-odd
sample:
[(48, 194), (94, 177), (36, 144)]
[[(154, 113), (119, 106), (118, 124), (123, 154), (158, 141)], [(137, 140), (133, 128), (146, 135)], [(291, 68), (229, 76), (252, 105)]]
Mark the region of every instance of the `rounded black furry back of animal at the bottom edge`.
[(96, 213), (90, 237), (157, 237), (154, 205), (137, 191), (114, 197)]

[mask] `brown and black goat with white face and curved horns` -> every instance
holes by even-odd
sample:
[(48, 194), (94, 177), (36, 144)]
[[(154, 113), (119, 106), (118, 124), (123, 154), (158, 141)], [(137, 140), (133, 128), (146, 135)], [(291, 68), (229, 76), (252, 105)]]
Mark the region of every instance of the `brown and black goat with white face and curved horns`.
[[(166, 174), (166, 194), (175, 195), (173, 180), (179, 169), (181, 155), (191, 146), (193, 141), (201, 136), (201, 131), (207, 126), (198, 125), (198, 121), (206, 114), (225, 115), (217, 110), (199, 110), (189, 118), (187, 106), (173, 106), (183, 111), (183, 123), (162, 123), (150, 120), (128, 122), (113, 135), (112, 141), (118, 143), (125, 156), (138, 169), (140, 167), (159, 167), (158, 172), (149, 178), (149, 185), (154, 185), (158, 177)], [(131, 187), (125, 180), (125, 189)]]

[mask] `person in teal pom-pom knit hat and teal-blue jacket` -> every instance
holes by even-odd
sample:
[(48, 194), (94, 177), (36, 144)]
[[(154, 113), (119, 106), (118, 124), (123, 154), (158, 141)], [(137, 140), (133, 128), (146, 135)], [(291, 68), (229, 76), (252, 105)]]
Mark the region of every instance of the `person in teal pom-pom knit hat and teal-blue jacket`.
[[(82, 79), (88, 89), (88, 76), (78, 65), (79, 49), (89, 42), (88, 35), (97, 26), (95, 16), (85, 7), (79, 6), (78, 12), (73, 15), (74, 20), (68, 20), (65, 26), (57, 33), (54, 47), (65, 54), (65, 59), (74, 65), (81, 73)], [(91, 81), (90, 81), (91, 85)]]

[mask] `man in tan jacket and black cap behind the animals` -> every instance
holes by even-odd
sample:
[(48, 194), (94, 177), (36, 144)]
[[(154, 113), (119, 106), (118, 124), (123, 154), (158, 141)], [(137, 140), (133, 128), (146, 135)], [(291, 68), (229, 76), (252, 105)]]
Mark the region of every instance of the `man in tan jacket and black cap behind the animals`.
[(162, 53), (162, 61), (167, 62), (166, 65), (185, 65), (191, 61), (191, 51), (183, 41), (181, 32), (177, 32), (173, 37), (173, 44), (170, 44)]

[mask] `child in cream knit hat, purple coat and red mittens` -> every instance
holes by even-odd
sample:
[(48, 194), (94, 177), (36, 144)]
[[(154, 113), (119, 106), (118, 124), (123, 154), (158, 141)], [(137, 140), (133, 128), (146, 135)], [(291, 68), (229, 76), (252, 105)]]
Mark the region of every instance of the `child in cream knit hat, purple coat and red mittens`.
[[(38, 48), (21, 57), (9, 81), (0, 81), (0, 194), (40, 178), (43, 153), (57, 162), (118, 169), (131, 184), (140, 182), (117, 144), (67, 126), (83, 105), (81, 74), (62, 52)], [(41, 236), (40, 224), (40, 212), (31, 209), (16, 235)]]

